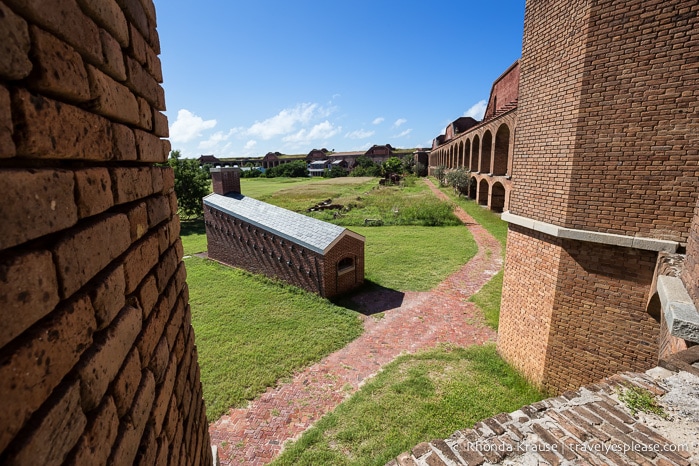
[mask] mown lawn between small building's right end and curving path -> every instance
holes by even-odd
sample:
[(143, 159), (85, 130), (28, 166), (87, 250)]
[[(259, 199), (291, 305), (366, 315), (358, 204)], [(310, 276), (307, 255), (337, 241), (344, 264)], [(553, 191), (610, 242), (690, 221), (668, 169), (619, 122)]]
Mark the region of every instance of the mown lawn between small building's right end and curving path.
[(366, 237), (365, 278), (394, 290), (431, 290), (477, 252), (463, 226), (352, 227), (352, 231)]

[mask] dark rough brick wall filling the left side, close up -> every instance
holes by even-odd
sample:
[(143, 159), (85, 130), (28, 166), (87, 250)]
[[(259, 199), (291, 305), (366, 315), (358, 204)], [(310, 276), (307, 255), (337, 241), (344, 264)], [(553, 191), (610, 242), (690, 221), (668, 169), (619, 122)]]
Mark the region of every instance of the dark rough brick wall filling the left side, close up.
[(0, 1), (0, 463), (210, 464), (150, 0)]

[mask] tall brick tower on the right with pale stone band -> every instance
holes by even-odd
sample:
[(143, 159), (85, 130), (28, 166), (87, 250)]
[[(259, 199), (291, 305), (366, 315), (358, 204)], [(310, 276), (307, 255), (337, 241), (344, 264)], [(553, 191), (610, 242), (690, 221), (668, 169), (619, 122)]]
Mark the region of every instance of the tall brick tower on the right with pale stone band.
[(657, 359), (699, 185), (696, 2), (528, 0), (500, 353), (552, 390)]

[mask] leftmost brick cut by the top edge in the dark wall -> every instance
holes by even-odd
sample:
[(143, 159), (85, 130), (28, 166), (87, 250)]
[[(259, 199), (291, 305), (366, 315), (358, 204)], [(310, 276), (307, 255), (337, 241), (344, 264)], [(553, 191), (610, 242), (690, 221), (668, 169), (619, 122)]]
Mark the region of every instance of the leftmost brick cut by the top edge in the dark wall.
[(75, 0), (5, 0), (33, 23), (54, 33), (75, 47), (92, 63), (101, 60), (97, 26), (80, 11)]

